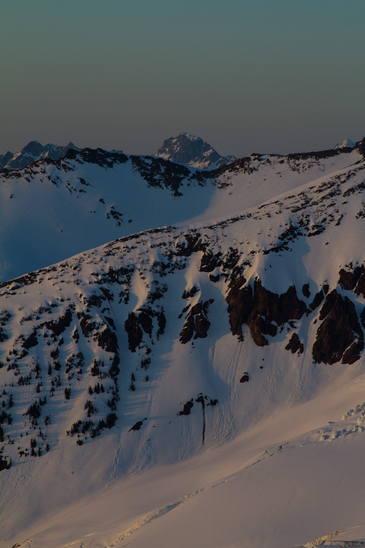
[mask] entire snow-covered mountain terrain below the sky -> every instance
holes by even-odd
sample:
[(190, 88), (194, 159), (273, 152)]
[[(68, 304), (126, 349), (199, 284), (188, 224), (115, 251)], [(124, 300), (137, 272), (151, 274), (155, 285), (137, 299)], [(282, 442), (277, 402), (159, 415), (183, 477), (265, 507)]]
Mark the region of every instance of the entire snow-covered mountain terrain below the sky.
[(0, 547), (365, 545), (365, 139), (181, 136), (0, 170)]

